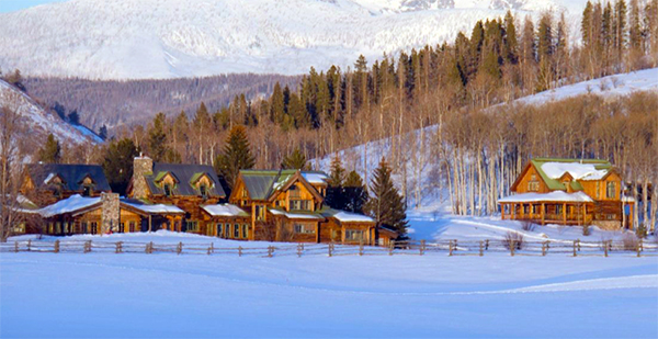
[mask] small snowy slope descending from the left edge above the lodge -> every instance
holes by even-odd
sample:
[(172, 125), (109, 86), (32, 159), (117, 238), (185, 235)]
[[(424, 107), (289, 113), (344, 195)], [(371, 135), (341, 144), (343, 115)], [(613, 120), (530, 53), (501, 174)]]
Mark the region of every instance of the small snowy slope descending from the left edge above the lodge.
[(60, 143), (99, 144), (103, 140), (89, 128), (71, 125), (57, 115), (46, 112), (32, 98), (13, 86), (0, 80), (0, 105), (8, 105), (25, 117), (31, 137), (45, 136), (52, 133)]

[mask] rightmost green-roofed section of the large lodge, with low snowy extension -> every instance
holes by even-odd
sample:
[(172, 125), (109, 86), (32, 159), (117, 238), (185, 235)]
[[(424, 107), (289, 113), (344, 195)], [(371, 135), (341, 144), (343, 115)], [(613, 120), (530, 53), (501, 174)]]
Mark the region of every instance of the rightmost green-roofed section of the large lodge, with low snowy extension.
[(229, 202), (249, 216), (251, 240), (387, 245), (397, 238), (368, 216), (325, 206), (327, 180), (319, 171), (241, 170)]

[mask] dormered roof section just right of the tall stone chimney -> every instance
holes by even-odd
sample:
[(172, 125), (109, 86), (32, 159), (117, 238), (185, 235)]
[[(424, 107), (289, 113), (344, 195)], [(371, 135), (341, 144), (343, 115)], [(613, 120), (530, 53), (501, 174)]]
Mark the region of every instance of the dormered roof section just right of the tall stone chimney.
[(167, 174), (170, 174), (177, 181), (172, 190), (174, 195), (201, 195), (195, 183), (201, 177), (207, 176), (212, 182), (211, 187), (207, 188), (208, 196), (226, 196), (219, 178), (212, 166), (163, 162), (155, 162), (152, 173), (144, 176), (152, 194), (164, 194), (164, 188), (159, 182)]

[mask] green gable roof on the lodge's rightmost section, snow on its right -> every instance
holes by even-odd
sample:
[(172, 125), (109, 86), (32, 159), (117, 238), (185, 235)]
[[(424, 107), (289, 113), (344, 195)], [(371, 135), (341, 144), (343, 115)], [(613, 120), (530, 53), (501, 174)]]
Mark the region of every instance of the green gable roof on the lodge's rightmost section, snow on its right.
[[(240, 179), (245, 184), (245, 189), (249, 193), (251, 200), (268, 200), (272, 194), (280, 189), (290, 185), (299, 172), (303, 182), (308, 184), (326, 184), (326, 179), (329, 178), (325, 172), (320, 171), (297, 171), (297, 170), (240, 170)], [(308, 178), (308, 179), (306, 179)], [(313, 180), (313, 181), (308, 181)], [(317, 191), (310, 187), (309, 190), (315, 194)]]

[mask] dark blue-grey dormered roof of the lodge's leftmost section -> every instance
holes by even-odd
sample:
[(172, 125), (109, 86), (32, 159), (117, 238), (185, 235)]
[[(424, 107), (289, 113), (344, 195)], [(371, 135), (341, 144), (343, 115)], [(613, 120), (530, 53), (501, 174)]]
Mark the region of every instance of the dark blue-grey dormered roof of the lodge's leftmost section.
[(82, 181), (89, 177), (95, 191), (111, 191), (103, 168), (98, 165), (30, 163), (26, 170), (34, 185), (41, 190), (53, 188), (52, 179), (59, 177), (64, 190), (82, 191)]

